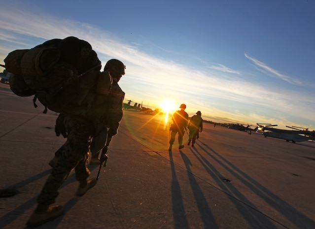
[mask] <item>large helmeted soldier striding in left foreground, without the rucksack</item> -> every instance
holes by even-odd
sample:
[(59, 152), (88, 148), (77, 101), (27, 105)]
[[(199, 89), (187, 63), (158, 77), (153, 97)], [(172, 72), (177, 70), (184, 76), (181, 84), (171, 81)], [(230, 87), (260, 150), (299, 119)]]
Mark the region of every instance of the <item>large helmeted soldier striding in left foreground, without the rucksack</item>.
[[(88, 112), (85, 115), (60, 114), (57, 118), (56, 134), (61, 133), (67, 137), (67, 141), (50, 162), (53, 170), (37, 198), (37, 207), (27, 223), (29, 227), (38, 227), (62, 215), (64, 207), (51, 206), (51, 204), (55, 202), (59, 195), (58, 189), (73, 168), (76, 180), (79, 181), (76, 196), (83, 196), (97, 183), (95, 178), (89, 179), (90, 171), (87, 168), (89, 146), (92, 140), (91, 147), (95, 149), (94, 152), (98, 152), (108, 146), (112, 136), (117, 134), (123, 115), (122, 106), (125, 96), (117, 84), (125, 74), (125, 65), (112, 59), (106, 63), (104, 71), (111, 74), (113, 79), (111, 89), (107, 96), (95, 96), (92, 108), (89, 110), (91, 114)], [(103, 129), (100, 130), (101, 128)], [(107, 128), (109, 128), (108, 132)]]

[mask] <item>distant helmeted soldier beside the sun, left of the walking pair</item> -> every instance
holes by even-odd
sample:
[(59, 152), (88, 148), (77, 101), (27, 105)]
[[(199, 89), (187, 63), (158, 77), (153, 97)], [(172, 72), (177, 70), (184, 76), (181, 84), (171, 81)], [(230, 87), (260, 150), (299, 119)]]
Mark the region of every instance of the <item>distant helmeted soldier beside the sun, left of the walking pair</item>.
[(186, 130), (188, 124), (188, 114), (185, 112), (186, 105), (181, 104), (179, 106), (180, 110), (175, 111), (173, 114), (172, 120), (173, 124), (171, 126), (171, 139), (170, 139), (170, 148), (169, 151), (172, 150), (172, 146), (175, 141), (176, 133), (178, 132), (178, 149), (184, 148), (183, 143), (183, 135), (184, 131)]

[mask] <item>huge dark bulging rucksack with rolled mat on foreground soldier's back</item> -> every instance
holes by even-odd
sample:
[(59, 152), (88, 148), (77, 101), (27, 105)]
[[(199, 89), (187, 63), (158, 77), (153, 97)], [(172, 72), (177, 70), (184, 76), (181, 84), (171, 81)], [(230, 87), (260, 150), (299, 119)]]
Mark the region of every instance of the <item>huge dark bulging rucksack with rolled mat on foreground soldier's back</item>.
[(101, 62), (92, 46), (73, 36), (15, 50), (4, 63), (13, 73), (11, 90), (18, 96), (35, 95), (34, 105), (38, 99), (45, 106), (44, 113), (48, 108), (84, 115), (96, 93), (108, 94), (112, 82), (108, 73), (100, 72)]

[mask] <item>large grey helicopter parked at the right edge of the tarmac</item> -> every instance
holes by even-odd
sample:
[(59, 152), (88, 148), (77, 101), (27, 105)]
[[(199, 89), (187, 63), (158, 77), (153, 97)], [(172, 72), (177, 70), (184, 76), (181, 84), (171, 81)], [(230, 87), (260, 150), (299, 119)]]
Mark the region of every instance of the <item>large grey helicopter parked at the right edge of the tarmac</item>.
[(292, 128), (295, 130), (282, 130), (282, 129), (277, 129), (273, 128), (278, 125), (271, 125), (271, 124), (259, 124), (257, 123), (257, 130), (262, 131), (262, 134), (265, 137), (274, 137), (274, 138), (279, 138), (279, 139), (284, 139), (287, 142), (292, 141), (293, 143), (295, 142), (300, 142), (300, 141), (308, 141), (308, 140), (315, 140), (315, 131), (308, 131), (307, 129), (300, 130), (297, 129), (296, 127), (288, 127)]

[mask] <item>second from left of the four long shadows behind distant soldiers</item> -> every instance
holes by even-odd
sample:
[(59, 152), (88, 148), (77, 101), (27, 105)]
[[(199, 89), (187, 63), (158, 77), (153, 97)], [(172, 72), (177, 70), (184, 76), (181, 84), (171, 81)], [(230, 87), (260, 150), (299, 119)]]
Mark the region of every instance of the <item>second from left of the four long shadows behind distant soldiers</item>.
[(179, 153), (184, 161), (184, 164), (186, 166), (186, 171), (187, 171), (187, 175), (188, 175), (188, 179), (190, 182), (190, 186), (192, 189), (192, 192), (194, 194), (196, 203), (197, 203), (197, 207), (201, 216), (201, 219), (203, 221), (204, 224), (204, 228), (208, 229), (218, 229), (218, 225), (215, 222), (215, 219), (213, 218), (211, 209), (207, 203), (207, 199), (205, 197), (205, 195), (203, 194), (200, 186), (198, 185), (197, 180), (195, 179), (195, 176), (193, 175), (191, 169), (190, 169), (190, 165), (191, 162), (188, 159), (188, 157), (181, 151), (179, 150)]

